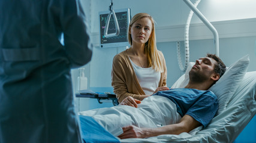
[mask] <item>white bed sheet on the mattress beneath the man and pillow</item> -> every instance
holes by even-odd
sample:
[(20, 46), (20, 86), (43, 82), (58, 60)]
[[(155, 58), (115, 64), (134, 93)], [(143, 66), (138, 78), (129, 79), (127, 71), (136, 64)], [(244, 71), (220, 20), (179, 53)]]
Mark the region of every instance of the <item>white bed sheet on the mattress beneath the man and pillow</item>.
[(233, 142), (256, 114), (256, 71), (245, 74), (225, 111), (204, 129), (180, 135), (160, 135), (125, 142)]

